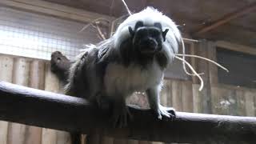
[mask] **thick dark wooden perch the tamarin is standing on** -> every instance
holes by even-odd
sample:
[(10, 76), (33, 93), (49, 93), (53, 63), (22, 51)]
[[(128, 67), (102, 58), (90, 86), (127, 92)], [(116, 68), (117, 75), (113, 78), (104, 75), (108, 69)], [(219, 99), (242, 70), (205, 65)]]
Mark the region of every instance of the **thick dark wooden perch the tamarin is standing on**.
[(172, 122), (158, 120), (150, 110), (129, 107), (128, 127), (111, 127), (108, 110), (82, 98), (0, 82), (0, 119), (32, 126), (115, 138), (162, 142), (256, 142), (256, 118), (177, 112)]

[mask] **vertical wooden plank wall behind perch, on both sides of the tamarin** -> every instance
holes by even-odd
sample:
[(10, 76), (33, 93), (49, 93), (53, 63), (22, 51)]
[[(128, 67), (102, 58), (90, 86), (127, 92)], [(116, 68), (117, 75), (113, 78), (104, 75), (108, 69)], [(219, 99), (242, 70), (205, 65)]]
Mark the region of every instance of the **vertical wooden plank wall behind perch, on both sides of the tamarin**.
[[(206, 58), (215, 58), (216, 50), (213, 42), (203, 42), (191, 48), (192, 54)], [(173, 106), (178, 111), (255, 116), (256, 90), (237, 86), (218, 84), (217, 68), (207, 62), (191, 59), (193, 66), (203, 76), (205, 90), (198, 91), (198, 80), (190, 81), (166, 79), (161, 92), (163, 106)], [(23, 86), (62, 93), (58, 78), (50, 72), (49, 62), (31, 58), (15, 58), (0, 55), (0, 79)], [(127, 100), (130, 104), (148, 107), (146, 95), (134, 94)], [(11, 122), (0, 122), (1, 144), (70, 144), (68, 133), (58, 130), (25, 126)], [(115, 139), (100, 135), (84, 136), (86, 144), (162, 144), (164, 142), (146, 142), (127, 139)]]

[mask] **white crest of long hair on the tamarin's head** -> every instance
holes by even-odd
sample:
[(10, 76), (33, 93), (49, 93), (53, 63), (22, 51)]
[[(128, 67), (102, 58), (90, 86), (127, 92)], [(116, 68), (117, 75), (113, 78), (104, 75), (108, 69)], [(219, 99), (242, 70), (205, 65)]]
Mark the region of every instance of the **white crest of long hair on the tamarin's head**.
[(118, 26), (114, 37), (114, 47), (118, 49), (123, 40), (130, 37), (128, 27), (131, 26), (134, 30), (136, 22), (142, 21), (144, 26), (154, 26), (155, 22), (162, 25), (162, 30), (169, 29), (166, 34), (166, 41), (163, 42), (163, 50), (166, 50), (168, 58), (173, 58), (173, 54), (178, 53), (179, 43), (182, 41), (182, 36), (177, 28), (177, 25), (162, 12), (153, 7), (146, 7), (136, 14), (131, 14), (124, 22)]

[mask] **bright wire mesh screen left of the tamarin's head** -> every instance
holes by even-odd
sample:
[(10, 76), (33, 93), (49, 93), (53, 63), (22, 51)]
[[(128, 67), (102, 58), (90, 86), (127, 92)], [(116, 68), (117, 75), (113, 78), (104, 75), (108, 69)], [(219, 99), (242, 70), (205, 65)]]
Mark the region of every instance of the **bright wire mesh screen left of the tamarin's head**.
[(99, 42), (96, 30), (86, 23), (0, 7), (0, 53), (50, 59), (61, 51), (74, 58), (85, 44)]

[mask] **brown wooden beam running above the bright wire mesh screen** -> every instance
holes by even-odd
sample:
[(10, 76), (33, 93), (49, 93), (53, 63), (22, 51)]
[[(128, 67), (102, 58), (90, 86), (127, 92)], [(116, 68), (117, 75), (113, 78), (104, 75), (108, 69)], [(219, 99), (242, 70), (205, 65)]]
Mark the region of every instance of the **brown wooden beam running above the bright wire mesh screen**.
[(1, 0), (0, 6), (8, 6), (19, 10), (26, 10), (38, 14), (51, 15), (58, 18), (71, 19), (78, 22), (93, 22), (95, 19), (104, 18), (110, 22), (114, 17), (97, 14), (90, 11), (63, 6), (42, 0)]

